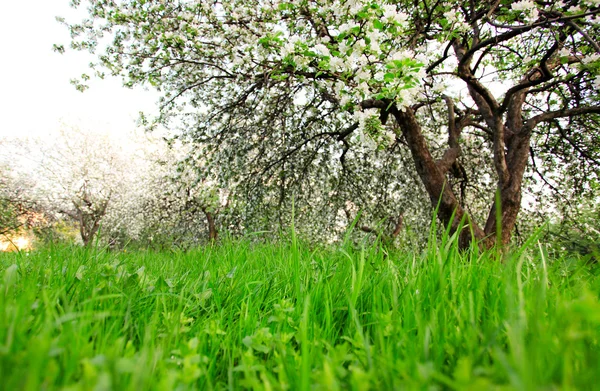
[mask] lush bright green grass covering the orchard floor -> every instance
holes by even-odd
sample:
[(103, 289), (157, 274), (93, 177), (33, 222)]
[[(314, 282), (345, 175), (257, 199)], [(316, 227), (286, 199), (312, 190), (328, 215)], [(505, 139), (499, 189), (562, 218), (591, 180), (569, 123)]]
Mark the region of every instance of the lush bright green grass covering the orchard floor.
[(529, 245), (0, 255), (0, 389), (599, 389), (600, 278)]

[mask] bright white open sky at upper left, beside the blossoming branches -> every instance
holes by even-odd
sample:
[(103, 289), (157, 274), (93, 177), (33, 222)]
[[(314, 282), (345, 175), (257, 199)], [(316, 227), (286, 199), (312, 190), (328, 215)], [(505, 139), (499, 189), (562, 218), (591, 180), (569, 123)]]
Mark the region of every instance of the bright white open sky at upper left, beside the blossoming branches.
[[(79, 15), (79, 16), (78, 16)], [(81, 93), (69, 83), (93, 57), (67, 50), (67, 28), (55, 19), (79, 21), (84, 14), (69, 7), (69, 0), (4, 1), (0, 12), (0, 138), (44, 136), (61, 121), (95, 131), (123, 134), (135, 128), (140, 111), (151, 113), (158, 99), (153, 91), (130, 90), (115, 78), (93, 79)]]

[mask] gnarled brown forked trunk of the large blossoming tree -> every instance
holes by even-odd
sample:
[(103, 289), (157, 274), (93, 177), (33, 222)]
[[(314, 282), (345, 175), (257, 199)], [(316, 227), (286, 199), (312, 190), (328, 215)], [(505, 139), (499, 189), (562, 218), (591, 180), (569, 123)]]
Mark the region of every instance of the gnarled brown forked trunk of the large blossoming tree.
[[(531, 76), (528, 78), (531, 79)], [(487, 248), (496, 244), (498, 239), (500, 245), (510, 241), (521, 209), (521, 190), (529, 158), (531, 130), (545, 119), (542, 115), (525, 123), (522, 121), (521, 108), (526, 92), (526, 89), (523, 89), (511, 96), (506, 109), (507, 120), (504, 122), (503, 110), (500, 110), (493, 98), (488, 97), (486, 100), (482, 97), (481, 91), (485, 92), (482, 88), (470, 87), (469, 90), (488, 127), (493, 130), (493, 159), (498, 175), (497, 196), (490, 194), (492, 206), (484, 228), (465, 211), (447, 180), (448, 172), (457, 164), (461, 155), (459, 139), (462, 129), (470, 125), (469, 116), (455, 118), (454, 104), (450, 98), (446, 99), (448, 149), (441, 159), (435, 160), (412, 108), (400, 110), (389, 101), (383, 100), (367, 100), (362, 103), (363, 109), (378, 108), (385, 111), (386, 115), (394, 117), (410, 149), (417, 173), (429, 194), (432, 206), (437, 208), (438, 217), (445, 225), (451, 226), (453, 233), (461, 229), (459, 238), (463, 248), (468, 247), (473, 239)], [(497, 221), (498, 216), (500, 221)]]

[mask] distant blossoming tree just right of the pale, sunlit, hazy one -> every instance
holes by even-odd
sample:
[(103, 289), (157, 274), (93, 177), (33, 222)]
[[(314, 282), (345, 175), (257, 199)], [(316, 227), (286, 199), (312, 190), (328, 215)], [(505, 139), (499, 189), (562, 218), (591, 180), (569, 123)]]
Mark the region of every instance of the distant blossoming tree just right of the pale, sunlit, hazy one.
[(219, 237), (227, 195), (196, 165), (182, 160), (187, 150), (160, 137), (133, 137), (127, 158), (134, 162), (124, 178), (126, 191), (110, 199), (102, 219), (103, 237), (112, 246), (126, 244), (187, 248)]

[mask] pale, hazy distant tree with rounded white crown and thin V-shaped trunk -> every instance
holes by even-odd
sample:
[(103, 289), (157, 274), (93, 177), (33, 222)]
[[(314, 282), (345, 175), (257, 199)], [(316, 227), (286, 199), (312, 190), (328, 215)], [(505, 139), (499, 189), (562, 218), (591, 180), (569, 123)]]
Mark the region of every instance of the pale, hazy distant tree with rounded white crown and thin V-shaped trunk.
[(73, 221), (89, 246), (111, 202), (125, 191), (123, 151), (108, 135), (66, 126), (52, 140), (38, 140), (36, 149), (40, 197)]

